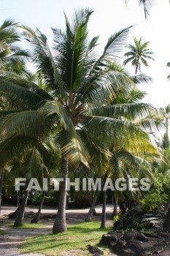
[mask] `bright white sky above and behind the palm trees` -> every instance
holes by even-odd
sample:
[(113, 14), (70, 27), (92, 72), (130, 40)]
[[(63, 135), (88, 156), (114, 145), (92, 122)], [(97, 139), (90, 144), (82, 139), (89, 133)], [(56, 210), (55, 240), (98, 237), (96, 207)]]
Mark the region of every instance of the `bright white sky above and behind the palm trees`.
[[(147, 20), (138, 0), (128, 0), (127, 6), (125, 0), (0, 0), (0, 24), (7, 18), (13, 18), (31, 28), (37, 27), (51, 45), (53, 34), (50, 28), (65, 27), (63, 11), (71, 18), (74, 10), (81, 7), (94, 10), (88, 29), (90, 37), (100, 36), (99, 53), (102, 53), (111, 34), (131, 25), (134, 28), (128, 43), (133, 43), (133, 37), (142, 37), (143, 42), (150, 41), (149, 48), (155, 53), (155, 61), (150, 61), (150, 68), (143, 68), (142, 72), (150, 75), (153, 83), (140, 86), (147, 91), (144, 102), (155, 107), (170, 104), (170, 81), (166, 79), (170, 73), (170, 68), (166, 67), (170, 61), (169, 0), (156, 0)], [(131, 65), (127, 69), (134, 75)]]

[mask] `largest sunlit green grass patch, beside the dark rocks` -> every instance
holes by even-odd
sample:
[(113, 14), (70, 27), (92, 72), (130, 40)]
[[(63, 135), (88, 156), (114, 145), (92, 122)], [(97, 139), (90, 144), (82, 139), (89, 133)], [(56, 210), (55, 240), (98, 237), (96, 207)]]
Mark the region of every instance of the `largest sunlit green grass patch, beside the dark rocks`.
[[(100, 229), (98, 222), (82, 222), (77, 225), (69, 225), (66, 233), (58, 235), (38, 236), (28, 238), (21, 246), (22, 252), (42, 252), (46, 255), (65, 255), (64, 252), (74, 251), (74, 255), (88, 255), (86, 246), (98, 245), (101, 236), (109, 232), (112, 227)], [(104, 249), (104, 253), (108, 253)]]

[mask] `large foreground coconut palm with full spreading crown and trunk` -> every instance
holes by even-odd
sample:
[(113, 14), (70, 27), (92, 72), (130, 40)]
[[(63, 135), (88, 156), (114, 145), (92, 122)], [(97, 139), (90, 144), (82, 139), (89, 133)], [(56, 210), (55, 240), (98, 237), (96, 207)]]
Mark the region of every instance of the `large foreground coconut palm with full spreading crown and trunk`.
[[(66, 178), (69, 167), (80, 163), (89, 167), (90, 146), (112, 148), (131, 146), (134, 151), (157, 152), (149, 135), (133, 120), (150, 115), (152, 106), (144, 103), (108, 105), (115, 92), (134, 81), (115, 61), (123, 48), (130, 27), (109, 37), (104, 52), (95, 52), (98, 37), (88, 39), (89, 9), (75, 12), (72, 23), (66, 18), (66, 31), (53, 29), (54, 47), (50, 50), (47, 37), (38, 29), (25, 29), (33, 46), (33, 61), (45, 87), (20, 75), (8, 72), (9, 81), (1, 80), (1, 91), (15, 109), (1, 113), (0, 132), (10, 154), (1, 157), (1, 165), (20, 157), (23, 150), (49, 136), (55, 137), (62, 154), (61, 193), (53, 233), (66, 231)], [(110, 61), (108, 61), (110, 59)], [(10, 88), (10, 89), (9, 89)], [(21, 97), (22, 95), (22, 97)], [(19, 99), (19, 101), (18, 101)], [(20, 110), (22, 109), (22, 110)], [(14, 143), (15, 142), (15, 143)], [(18, 147), (19, 145), (19, 147)], [(1, 146), (1, 145), (0, 145)], [(4, 148), (1, 147), (1, 156)], [(9, 158), (10, 157), (10, 158)]]

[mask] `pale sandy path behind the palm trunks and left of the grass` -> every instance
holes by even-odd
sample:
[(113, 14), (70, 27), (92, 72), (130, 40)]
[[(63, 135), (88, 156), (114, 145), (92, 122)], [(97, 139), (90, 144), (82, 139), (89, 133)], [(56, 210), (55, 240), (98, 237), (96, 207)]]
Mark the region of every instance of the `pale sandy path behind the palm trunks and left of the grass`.
[[(2, 206), (1, 208), (1, 226), (0, 230), (5, 232), (6, 234), (0, 234), (0, 255), (4, 256), (45, 256), (39, 253), (34, 254), (22, 254), (20, 253), (18, 247), (20, 244), (23, 243), (26, 238), (34, 237), (34, 236), (42, 236), (49, 233), (49, 228), (53, 227), (53, 220), (41, 220), (39, 223), (47, 224), (47, 227), (39, 227), (31, 229), (17, 229), (12, 227), (7, 227), (5, 223), (12, 222), (11, 219), (7, 218), (7, 215), (15, 211), (15, 207), (10, 206)], [(37, 208), (26, 208), (26, 212), (36, 212)], [(101, 206), (96, 207), (96, 211), (98, 214), (101, 214)], [(42, 210), (43, 214), (55, 214), (56, 209), (44, 208)], [(66, 219), (67, 223), (70, 224), (77, 224), (85, 219), (85, 214), (88, 213), (88, 208), (86, 209), (71, 209), (66, 210)], [(110, 216), (112, 214), (112, 206), (107, 206), (107, 222), (110, 222)], [(93, 218), (94, 220), (100, 221), (101, 215), (98, 215)], [(30, 222), (31, 219), (25, 219), (25, 222)], [(69, 256), (69, 255), (68, 255)]]

